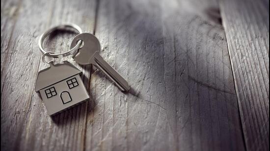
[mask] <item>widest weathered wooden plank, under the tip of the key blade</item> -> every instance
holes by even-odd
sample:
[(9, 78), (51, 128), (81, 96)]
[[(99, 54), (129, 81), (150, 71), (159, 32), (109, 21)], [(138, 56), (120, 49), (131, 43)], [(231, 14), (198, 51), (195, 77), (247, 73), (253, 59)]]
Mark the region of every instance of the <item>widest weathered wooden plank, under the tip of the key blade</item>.
[(100, 1), (101, 55), (133, 90), (92, 71), (86, 150), (244, 150), (224, 30), (186, 2)]

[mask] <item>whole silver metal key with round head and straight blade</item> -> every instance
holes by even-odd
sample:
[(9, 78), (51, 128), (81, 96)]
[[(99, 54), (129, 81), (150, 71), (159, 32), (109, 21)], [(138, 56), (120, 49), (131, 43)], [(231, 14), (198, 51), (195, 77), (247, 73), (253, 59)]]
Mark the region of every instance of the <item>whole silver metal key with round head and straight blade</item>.
[(77, 35), (71, 43), (73, 48), (79, 40), (83, 41), (83, 46), (79, 52), (73, 56), (73, 59), (80, 65), (95, 65), (102, 70), (122, 91), (128, 91), (130, 86), (128, 82), (99, 54), (101, 46), (99, 40), (90, 33)]

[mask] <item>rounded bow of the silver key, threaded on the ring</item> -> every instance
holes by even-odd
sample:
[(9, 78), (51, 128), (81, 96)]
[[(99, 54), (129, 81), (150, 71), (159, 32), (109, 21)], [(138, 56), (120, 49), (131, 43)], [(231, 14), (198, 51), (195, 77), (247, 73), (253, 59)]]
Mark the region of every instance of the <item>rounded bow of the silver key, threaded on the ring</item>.
[(94, 54), (99, 53), (101, 49), (99, 40), (93, 34), (82, 33), (74, 38), (70, 47), (73, 48), (79, 40), (82, 40), (83, 46), (74, 54), (73, 59), (80, 65), (89, 65)]

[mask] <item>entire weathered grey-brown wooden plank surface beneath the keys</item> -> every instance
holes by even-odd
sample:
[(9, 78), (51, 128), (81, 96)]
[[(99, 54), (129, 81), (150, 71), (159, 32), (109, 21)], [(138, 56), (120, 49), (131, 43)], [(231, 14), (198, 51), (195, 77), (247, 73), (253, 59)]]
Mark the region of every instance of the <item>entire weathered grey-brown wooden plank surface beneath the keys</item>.
[[(64, 22), (95, 34), (132, 89), (58, 59), (82, 69), (90, 100), (51, 118), (34, 91), (37, 41)], [(267, 151), (268, 122), (269, 1), (1, 0), (4, 151)]]

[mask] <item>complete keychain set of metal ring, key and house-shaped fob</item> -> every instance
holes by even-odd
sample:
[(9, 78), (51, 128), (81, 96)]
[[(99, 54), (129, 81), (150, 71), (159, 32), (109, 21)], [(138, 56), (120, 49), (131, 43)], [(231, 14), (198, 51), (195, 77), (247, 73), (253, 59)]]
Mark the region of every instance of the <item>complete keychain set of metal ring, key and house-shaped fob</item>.
[[(72, 48), (59, 54), (45, 51), (43, 48), (45, 38), (53, 31), (65, 28), (74, 28), (80, 33), (73, 40)], [(83, 46), (81, 46), (82, 41)], [(46, 62), (45, 57), (61, 58), (72, 55), (80, 65), (97, 66), (122, 91), (130, 89), (128, 82), (99, 55), (98, 39), (90, 33), (82, 33), (81, 28), (76, 24), (64, 24), (50, 28), (40, 36), (39, 48), (43, 53), (43, 63), (50, 66), (38, 72), (35, 91), (40, 93), (50, 116), (83, 103), (89, 99), (89, 95), (81, 80), (82, 72), (79, 68), (67, 61), (59, 64), (54, 64), (54, 61)]]

